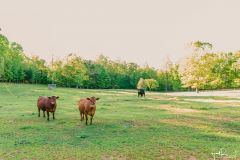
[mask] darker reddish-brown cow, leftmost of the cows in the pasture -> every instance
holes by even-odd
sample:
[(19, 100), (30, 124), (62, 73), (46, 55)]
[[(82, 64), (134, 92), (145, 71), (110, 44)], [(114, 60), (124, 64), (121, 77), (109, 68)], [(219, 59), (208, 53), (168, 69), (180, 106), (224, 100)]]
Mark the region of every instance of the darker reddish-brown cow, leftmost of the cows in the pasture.
[(52, 112), (53, 114), (53, 119), (55, 119), (54, 113), (56, 111), (57, 107), (57, 102), (56, 100), (59, 97), (56, 96), (51, 96), (51, 97), (42, 97), (39, 96), (38, 102), (37, 102), (37, 107), (38, 107), (38, 117), (40, 117), (40, 110), (43, 111), (43, 117), (45, 117), (45, 111), (47, 111), (47, 120), (49, 121), (49, 112)]

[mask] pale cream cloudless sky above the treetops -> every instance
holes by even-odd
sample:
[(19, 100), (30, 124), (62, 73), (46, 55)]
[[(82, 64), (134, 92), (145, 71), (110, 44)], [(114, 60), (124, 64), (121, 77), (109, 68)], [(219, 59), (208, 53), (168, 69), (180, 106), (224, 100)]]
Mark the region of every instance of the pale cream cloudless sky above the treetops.
[(0, 0), (0, 28), (46, 60), (104, 54), (140, 65), (176, 62), (202, 40), (240, 49), (239, 0)]

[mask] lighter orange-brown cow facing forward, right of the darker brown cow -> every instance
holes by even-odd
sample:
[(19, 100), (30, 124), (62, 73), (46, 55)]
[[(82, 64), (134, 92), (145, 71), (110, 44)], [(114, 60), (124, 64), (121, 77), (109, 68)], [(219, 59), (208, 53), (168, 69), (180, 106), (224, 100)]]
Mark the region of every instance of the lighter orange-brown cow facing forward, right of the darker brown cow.
[(84, 120), (85, 116), (86, 125), (88, 121), (88, 115), (91, 116), (90, 124), (92, 124), (92, 119), (96, 112), (96, 101), (99, 99), (100, 98), (91, 97), (86, 99), (80, 99), (80, 101), (78, 102), (78, 109), (80, 112), (81, 121)]

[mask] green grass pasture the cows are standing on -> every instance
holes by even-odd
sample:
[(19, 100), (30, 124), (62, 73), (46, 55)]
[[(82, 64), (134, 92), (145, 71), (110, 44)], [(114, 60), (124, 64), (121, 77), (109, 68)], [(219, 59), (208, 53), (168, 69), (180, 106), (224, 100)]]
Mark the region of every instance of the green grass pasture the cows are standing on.
[[(56, 119), (37, 116), (40, 95), (58, 95)], [(100, 97), (93, 125), (77, 101)], [(202, 99), (202, 97), (194, 97)], [(214, 97), (211, 97), (214, 98)], [(218, 97), (216, 99), (226, 99)], [(0, 159), (240, 159), (240, 105), (134, 90), (0, 83)], [(220, 155), (216, 155), (219, 159)], [(224, 156), (222, 156), (224, 157)], [(216, 158), (216, 159), (217, 159)]]

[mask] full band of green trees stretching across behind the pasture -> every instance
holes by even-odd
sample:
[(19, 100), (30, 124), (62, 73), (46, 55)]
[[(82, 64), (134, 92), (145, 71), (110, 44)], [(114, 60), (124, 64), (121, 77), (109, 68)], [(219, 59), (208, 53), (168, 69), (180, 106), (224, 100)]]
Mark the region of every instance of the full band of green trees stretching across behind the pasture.
[[(209, 43), (191, 43), (193, 54), (182, 65), (166, 62), (166, 68), (113, 61), (100, 55), (95, 61), (69, 54), (47, 65), (39, 57), (27, 57), (20, 44), (0, 34), (0, 81), (16, 83), (55, 83), (58, 86), (94, 89), (134, 89), (139, 80), (156, 91), (182, 89), (236, 88), (239, 57), (236, 53), (207, 53)], [(140, 82), (141, 83), (141, 82)]]

